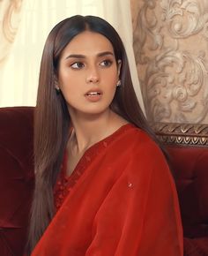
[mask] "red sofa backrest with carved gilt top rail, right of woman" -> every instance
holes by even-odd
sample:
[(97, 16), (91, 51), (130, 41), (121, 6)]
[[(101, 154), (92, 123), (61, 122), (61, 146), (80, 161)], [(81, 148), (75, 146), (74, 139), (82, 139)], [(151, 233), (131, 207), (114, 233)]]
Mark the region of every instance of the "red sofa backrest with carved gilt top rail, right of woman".
[(208, 124), (155, 124), (175, 174), (184, 237), (208, 236)]

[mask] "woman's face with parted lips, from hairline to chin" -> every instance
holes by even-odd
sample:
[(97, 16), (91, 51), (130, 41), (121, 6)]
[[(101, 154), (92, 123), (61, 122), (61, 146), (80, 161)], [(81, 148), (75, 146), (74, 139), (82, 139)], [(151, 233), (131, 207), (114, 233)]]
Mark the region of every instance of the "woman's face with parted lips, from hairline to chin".
[(100, 114), (115, 96), (121, 63), (113, 46), (98, 33), (85, 31), (63, 49), (58, 68), (58, 86), (70, 114)]

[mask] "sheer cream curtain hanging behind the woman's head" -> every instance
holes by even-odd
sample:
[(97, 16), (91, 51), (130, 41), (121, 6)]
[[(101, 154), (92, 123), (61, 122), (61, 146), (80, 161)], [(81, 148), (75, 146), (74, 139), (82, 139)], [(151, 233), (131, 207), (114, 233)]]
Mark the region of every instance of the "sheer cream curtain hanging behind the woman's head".
[(132, 49), (129, 0), (24, 0), (16, 40), (4, 67), (0, 67), (0, 107), (35, 105), (41, 53), (48, 33), (57, 22), (76, 14), (100, 16), (115, 26), (127, 49), (134, 87), (144, 109)]

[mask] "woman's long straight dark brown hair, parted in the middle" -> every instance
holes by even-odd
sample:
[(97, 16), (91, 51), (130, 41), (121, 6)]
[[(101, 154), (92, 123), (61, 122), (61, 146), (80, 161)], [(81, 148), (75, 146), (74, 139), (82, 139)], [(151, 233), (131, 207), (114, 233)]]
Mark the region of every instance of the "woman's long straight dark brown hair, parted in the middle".
[(60, 56), (71, 39), (85, 30), (107, 37), (113, 45), (116, 61), (122, 60), (120, 72), (122, 86), (116, 89), (111, 109), (156, 140), (137, 102), (123, 41), (114, 27), (106, 20), (94, 16), (76, 15), (58, 23), (48, 35), (41, 59), (34, 117), (35, 190), (27, 245), (28, 254), (33, 251), (33, 247), (53, 218), (53, 188), (71, 127), (71, 117), (63, 95), (56, 94), (55, 90)]

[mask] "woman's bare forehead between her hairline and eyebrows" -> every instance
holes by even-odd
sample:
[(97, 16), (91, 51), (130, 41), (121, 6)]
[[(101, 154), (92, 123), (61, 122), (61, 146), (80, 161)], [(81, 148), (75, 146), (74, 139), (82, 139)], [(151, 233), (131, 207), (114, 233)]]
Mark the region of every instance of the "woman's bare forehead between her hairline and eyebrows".
[(85, 31), (76, 35), (63, 49), (63, 56), (69, 54), (96, 55), (102, 51), (114, 54), (112, 43), (102, 34)]

